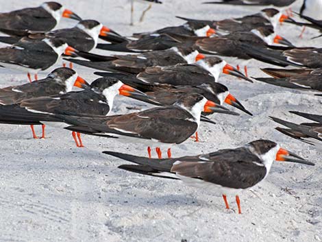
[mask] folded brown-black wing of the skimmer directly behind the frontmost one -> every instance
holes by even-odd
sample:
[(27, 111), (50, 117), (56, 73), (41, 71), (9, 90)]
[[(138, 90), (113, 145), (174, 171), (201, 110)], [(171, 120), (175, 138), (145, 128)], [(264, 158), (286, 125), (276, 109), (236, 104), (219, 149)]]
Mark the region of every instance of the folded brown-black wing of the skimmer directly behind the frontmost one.
[(62, 117), (62, 119), (74, 125), (71, 128), (74, 131), (82, 132), (82, 126), (87, 126), (94, 135), (119, 134), (154, 139), (163, 143), (182, 143), (197, 130), (197, 123), (192, 120), (191, 114), (177, 107), (151, 108), (143, 112), (106, 118)]

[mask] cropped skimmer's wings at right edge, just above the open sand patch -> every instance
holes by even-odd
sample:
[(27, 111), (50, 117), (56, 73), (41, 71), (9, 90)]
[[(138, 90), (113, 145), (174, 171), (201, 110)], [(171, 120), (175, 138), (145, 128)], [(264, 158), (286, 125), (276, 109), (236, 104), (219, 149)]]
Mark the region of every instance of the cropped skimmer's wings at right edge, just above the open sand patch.
[[(264, 70), (265, 72), (269, 73), (271, 70)], [(287, 75), (288, 70), (284, 72)], [(275, 86), (282, 86), (286, 88), (293, 88), (299, 90), (318, 90), (322, 91), (322, 69), (314, 69), (308, 71), (306, 69), (300, 69), (295, 73), (295, 71), (290, 70), (290, 75), (286, 77), (262, 77), (262, 78), (255, 78), (260, 82), (265, 82), (268, 84), (273, 84)], [(272, 75), (276, 76), (276, 71), (272, 73)], [(278, 75), (278, 73), (277, 73)]]

